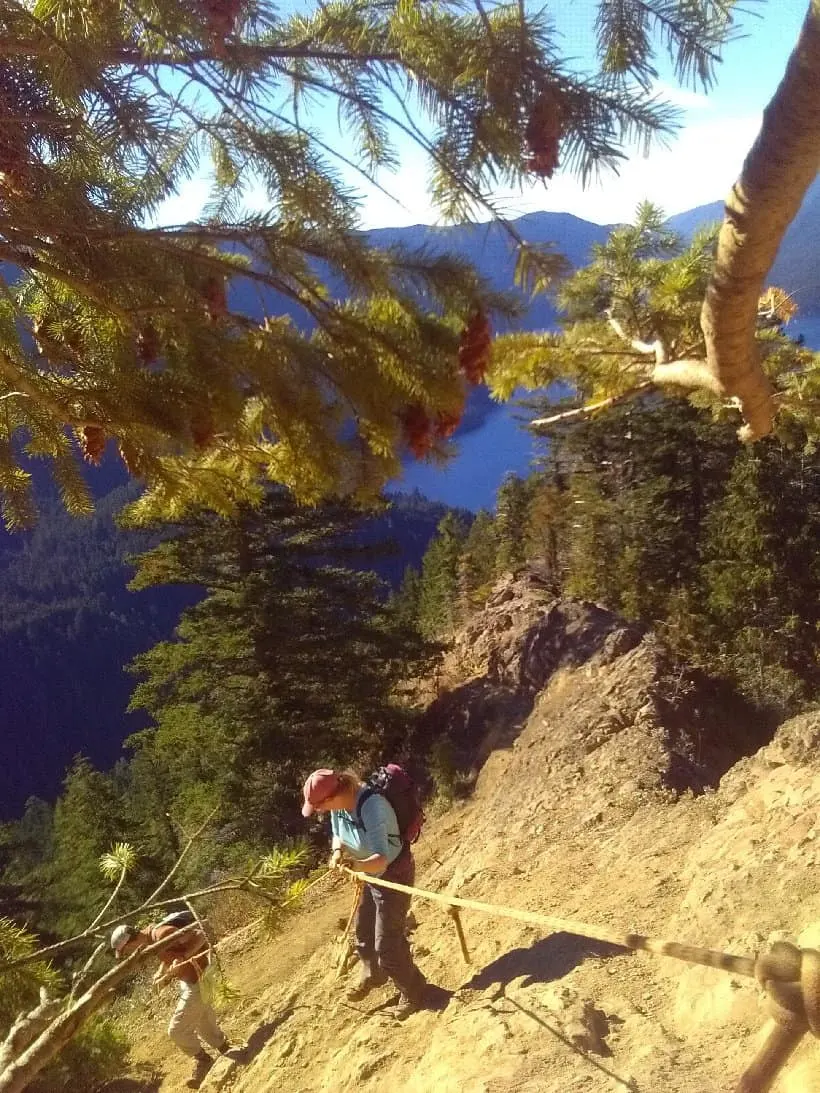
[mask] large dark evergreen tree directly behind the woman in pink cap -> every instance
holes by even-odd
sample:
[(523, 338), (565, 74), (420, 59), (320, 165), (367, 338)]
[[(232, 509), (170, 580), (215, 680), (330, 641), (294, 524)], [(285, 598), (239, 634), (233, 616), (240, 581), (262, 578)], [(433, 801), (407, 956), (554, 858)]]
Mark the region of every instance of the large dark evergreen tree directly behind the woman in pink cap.
[(178, 822), (218, 808), (251, 842), (301, 830), (306, 771), (400, 745), (409, 714), (396, 687), (433, 648), (353, 567), (367, 561), (360, 519), (278, 492), (234, 520), (200, 516), (138, 561), (137, 587), (208, 589), (176, 640), (134, 661), (132, 705), (155, 722), (132, 738), (134, 761), (162, 772)]

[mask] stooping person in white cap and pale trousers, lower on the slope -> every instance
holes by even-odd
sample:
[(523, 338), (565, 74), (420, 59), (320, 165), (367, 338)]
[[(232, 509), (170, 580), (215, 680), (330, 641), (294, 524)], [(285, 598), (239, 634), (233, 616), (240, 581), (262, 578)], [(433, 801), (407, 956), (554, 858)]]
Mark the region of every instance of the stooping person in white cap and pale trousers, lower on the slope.
[[(117, 960), (179, 931), (186, 925), (186, 917), (184, 912), (168, 915), (142, 930), (127, 925), (116, 927), (110, 944)], [(208, 939), (199, 926), (190, 926), (180, 935), (177, 944), (160, 953), (160, 966), (151, 980), (156, 987), (172, 979), (179, 984), (179, 1001), (168, 1025), (168, 1036), (180, 1051), (194, 1059), (194, 1072), (186, 1083), (192, 1090), (199, 1089), (214, 1061), (200, 1042), (210, 1044), (220, 1055), (225, 1055), (231, 1047), (216, 1022), (216, 1014), (202, 997), (200, 980), (209, 963)]]

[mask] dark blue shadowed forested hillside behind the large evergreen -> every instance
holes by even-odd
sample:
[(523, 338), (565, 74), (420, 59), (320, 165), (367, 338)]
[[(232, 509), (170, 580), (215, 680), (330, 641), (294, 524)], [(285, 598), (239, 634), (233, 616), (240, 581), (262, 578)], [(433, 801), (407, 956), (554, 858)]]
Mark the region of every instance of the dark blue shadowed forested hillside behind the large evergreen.
[[(8, 819), (31, 795), (50, 798), (78, 752), (102, 767), (147, 721), (127, 707), (130, 661), (171, 637), (183, 608), (202, 596), (197, 581), (129, 591), (130, 559), (167, 531), (128, 531), (116, 515), (136, 495), (122, 487), (78, 519), (56, 498), (40, 502), (37, 527), (0, 552), (0, 800)], [(359, 522), (366, 562), (397, 585), (420, 563), (445, 509), (399, 495)]]

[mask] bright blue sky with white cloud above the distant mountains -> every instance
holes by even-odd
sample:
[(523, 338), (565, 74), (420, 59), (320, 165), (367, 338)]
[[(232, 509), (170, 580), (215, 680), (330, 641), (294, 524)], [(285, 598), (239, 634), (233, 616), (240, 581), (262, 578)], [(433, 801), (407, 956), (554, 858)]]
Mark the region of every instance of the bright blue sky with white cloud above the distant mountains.
[[(658, 64), (656, 90), (682, 111), (681, 128), (668, 148), (656, 146), (647, 156), (630, 150), (630, 158), (618, 175), (607, 172), (586, 189), (571, 174), (559, 172), (546, 186), (534, 183), (524, 191), (500, 191), (496, 198), (505, 213), (561, 211), (606, 224), (629, 219), (643, 199), (671, 214), (723, 198), (754, 140), (763, 107), (780, 82), (807, 7), (807, 0), (741, 0), (738, 23), (745, 37), (724, 48), (724, 61), (712, 89), (681, 87), (666, 59)], [(579, 68), (590, 67), (595, 0), (549, 0), (547, 8), (561, 35), (561, 54), (577, 59)], [(364, 226), (436, 222), (426, 179), (423, 153), (409, 142), (401, 145), (399, 172), (379, 176), (382, 186), (397, 200), (375, 188), (364, 190)], [(350, 181), (362, 188), (359, 176), (351, 174)], [(162, 219), (187, 220), (206, 188), (202, 179), (188, 184)]]

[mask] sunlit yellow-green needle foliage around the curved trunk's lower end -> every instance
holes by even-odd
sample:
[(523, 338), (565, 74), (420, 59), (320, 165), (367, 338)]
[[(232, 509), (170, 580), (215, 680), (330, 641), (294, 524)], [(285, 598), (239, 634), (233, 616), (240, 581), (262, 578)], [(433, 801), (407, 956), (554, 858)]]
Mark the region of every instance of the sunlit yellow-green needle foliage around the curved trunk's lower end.
[[(518, 387), (538, 390), (561, 383), (569, 388), (563, 402), (589, 415), (599, 401), (636, 397), (655, 385), (672, 398), (690, 390), (693, 406), (707, 408), (718, 421), (737, 422), (737, 408), (702, 386), (701, 309), (716, 239), (717, 225), (686, 245), (658, 208), (639, 205), (634, 223), (595, 245), (589, 265), (560, 285), (560, 334), (496, 339), (488, 375), (493, 393), (509, 398)], [(798, 444), (808, 436), (815, 443), (820, 356), (785, 336), (790, 314), (794, 306), (785, 293), (770, 290), (760, 302), (757, 337), (777, 391), (777, 435)], [(678, 367), (670, 377), (672, 365)], [(539, 401), (548, 421), (554, 418), (554, 400)]]

